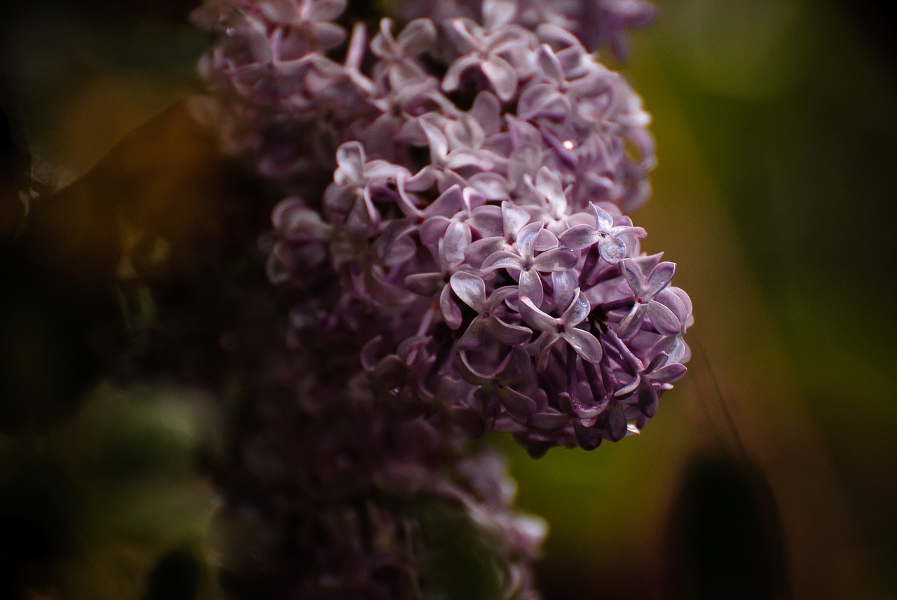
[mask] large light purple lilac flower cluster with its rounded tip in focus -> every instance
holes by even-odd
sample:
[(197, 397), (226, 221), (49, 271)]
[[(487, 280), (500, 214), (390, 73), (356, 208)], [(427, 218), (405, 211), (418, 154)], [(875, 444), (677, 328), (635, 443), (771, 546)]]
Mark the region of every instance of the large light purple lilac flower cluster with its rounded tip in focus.
[[(313, 4), (258, 7), (246, 18), (267, 20), (273, 31), (300, 18), (335, 18), (338, 3)], [(272, 276), (301, 281), (300, 259), (313, 258), (306, 264), (320, 270), (329, 254), (347, 296), (327, 323), (353, 330), (361, 345), (383, 340), (379, 361), (365, 363), (368, 377), (391, 373), (396, 401), (423, 416), (470, 414), (492, 395), (503, 402), (487, 398), (484, 418), (527, 443), (592, 439), (585, 444), (592, 447), (596, 436), (618, 439), (618, 420), (599, 417), (617, 405), (638, 365), (661, 352), (671, 363), (687, 360), (683, 335), (692, 319), (687, 295), (669, 285), (673, 264), (640, 253), (645, 231), (623, 213), (647, 189), (649, 118), (563, 19), (527, 30), (538, 3), (486, 0), (455, 13), (435, 4), (397, 36), (383, 20), (368, 43), (356, 26), (342, 63), (314, 33), (330, 28), (291, 32), (318, 49), (295, 58), (302, 69), (275, 70), (287, 96), (308, 107), (279, 118), (313, 115), (341, 145), (330, 185), (301, 193), (321, 198), (319, 223), (309, 213), (314, 201), (276, 213), (295, 213), (292, 227), (315, 235), (273, 244)], [(573, 15), (585, 4), (563, 6), (538, 10)], [(238, 65), (243, 55), (227, 54), (234, 43), (224, 40), (222, 56)], [(439, 91), (423, 54), (444, 61), (444, 90), (459, 91), (464, 77), (487, 88), (471, 109), (457, 109)], [(355, 106), (343, 108), (349, 97)], [(642, 155), (631, 157), (627, 143)], [(429, 150), (423, 163), (414, 159), (421, 146)], [(297, 144), (295, 152), (307, 151)], [(306, 185), (297, 178), (287, 187)], [(283, 230), (283, 217), (275, 225)], [(361, 327), (353, 315), (360, 305), (376, 321)], [(524, 355), (529, 371), (520, 367)], [(492, 383), (501, 371), (496, 356), (515, 374), (528, 372), (502, 383), (501, 393)], [(466, 386), (440, 394), (436, 382), (446, 377)], [(530, 431), (533, 411), (542, 416)], [(549, 422), (558, 426), (548, 431)]]

